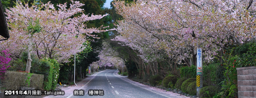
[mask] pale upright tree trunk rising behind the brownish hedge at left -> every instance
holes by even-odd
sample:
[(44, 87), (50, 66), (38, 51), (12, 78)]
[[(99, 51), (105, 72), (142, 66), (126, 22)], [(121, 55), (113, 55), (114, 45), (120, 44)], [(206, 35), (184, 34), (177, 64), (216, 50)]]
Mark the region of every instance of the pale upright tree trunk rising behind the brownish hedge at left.
[(27, 60), (27, 65), (26, 65), (26, 72), (30, 73), (30, 68), (31, 68), (31, 49), (32, 49), (32, 40), (33, 40), (33, 35), (31, 34), (32, 32), (29, 32), (29, 40), (28, 40), (28, 60)]

